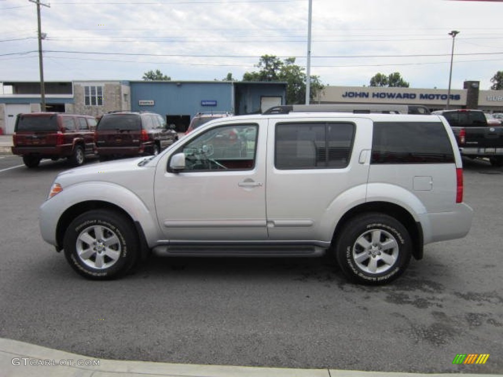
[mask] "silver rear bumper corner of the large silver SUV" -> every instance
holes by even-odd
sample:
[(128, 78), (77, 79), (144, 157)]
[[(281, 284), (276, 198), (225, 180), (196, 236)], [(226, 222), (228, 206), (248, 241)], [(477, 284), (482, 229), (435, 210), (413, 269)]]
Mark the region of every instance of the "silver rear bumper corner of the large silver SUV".
[(470, 231), (473, 210), (465, 203), (456, 204), (451, 212), (421, 215), (425, 245), (465, 237)]

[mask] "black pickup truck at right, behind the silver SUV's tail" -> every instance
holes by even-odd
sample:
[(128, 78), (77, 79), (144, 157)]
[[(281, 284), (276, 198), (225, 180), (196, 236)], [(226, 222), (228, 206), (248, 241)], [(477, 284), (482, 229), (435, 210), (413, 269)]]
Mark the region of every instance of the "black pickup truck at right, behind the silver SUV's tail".
[(503, 164), (503, 127), (490, 125), (481, 110), (440, 110), (433, 114), (447, 119), (463, 156), (486, 157), (492, 165)]

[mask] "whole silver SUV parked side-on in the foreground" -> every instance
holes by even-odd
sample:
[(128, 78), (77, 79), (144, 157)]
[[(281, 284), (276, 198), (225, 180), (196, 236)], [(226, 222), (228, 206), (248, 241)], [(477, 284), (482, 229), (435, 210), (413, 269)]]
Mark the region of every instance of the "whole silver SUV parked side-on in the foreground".
[(152, 249), (329, 252), (371, 285), (471, 221), (443, 117), (319, 112), (222, 118), (158, 156), (62, 172), (40, 213), (42, 237), (93, 279), (125, 274)]

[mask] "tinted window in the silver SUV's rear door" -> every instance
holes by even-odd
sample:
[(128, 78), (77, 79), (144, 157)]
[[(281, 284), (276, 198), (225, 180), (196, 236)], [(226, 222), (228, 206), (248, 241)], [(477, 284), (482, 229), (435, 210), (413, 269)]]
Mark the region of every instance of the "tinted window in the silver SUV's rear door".
[(275, 166), (278, 169), (346, 167), (354, 135), (352, 123), (278, 124)]

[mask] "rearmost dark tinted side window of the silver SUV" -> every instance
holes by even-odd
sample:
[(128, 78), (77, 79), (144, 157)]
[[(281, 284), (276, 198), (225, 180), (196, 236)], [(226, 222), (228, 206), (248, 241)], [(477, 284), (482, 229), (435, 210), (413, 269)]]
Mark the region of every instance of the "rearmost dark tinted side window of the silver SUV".
[(443, 123), (374, 123), (372, 164), (452, 162), (454, 152)]

